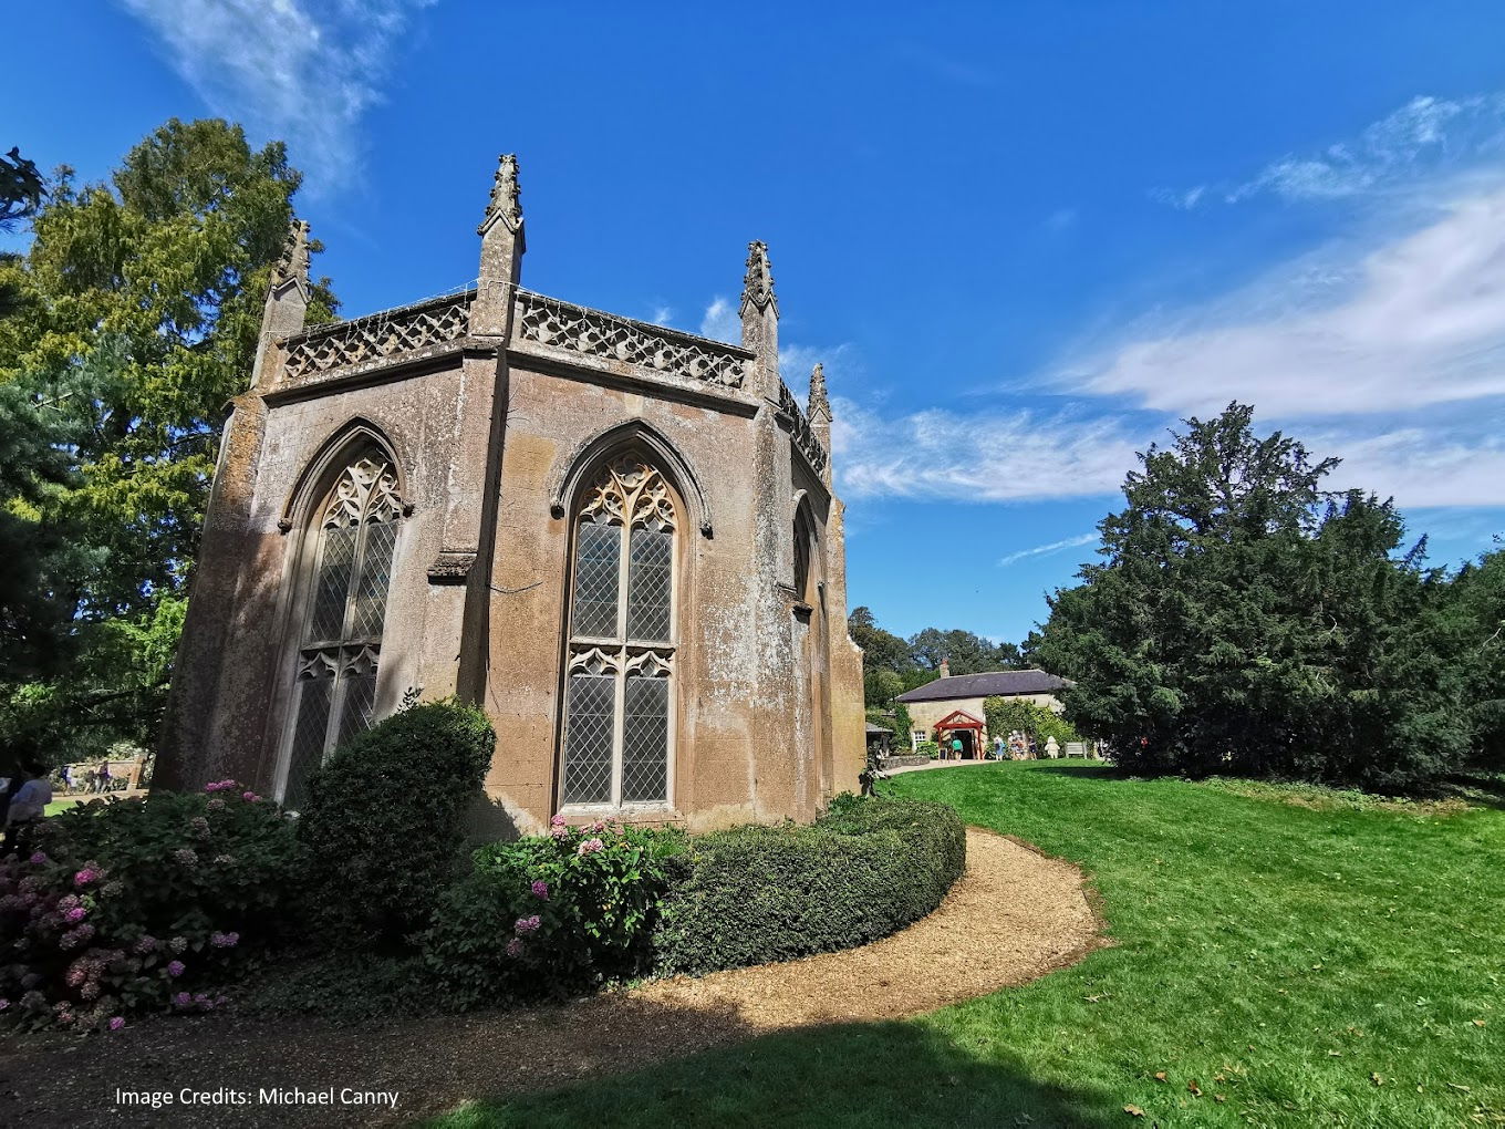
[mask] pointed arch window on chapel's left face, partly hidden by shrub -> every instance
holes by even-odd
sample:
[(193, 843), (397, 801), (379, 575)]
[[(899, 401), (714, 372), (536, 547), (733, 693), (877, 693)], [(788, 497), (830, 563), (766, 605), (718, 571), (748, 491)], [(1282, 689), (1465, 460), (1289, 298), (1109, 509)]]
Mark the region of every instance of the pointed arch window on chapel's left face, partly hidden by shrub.
[(283, 804), (307, 799), (309, 774), (336, 745), (370, 729), (402, 500), (387, 456), (367, 450), (315, 510), (316, 543), (293, 670)]

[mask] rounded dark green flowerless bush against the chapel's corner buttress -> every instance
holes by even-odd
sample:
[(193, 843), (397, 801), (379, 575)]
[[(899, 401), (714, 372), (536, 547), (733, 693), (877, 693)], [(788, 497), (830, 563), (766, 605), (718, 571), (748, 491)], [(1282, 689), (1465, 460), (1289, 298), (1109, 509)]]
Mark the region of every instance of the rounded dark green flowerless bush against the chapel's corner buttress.
[(393, 714), (340, 745), (309, 781), (298, 838), (325, 930), (400, 942), (464, 870), (465, 816), (497, 747), (455, 701)]

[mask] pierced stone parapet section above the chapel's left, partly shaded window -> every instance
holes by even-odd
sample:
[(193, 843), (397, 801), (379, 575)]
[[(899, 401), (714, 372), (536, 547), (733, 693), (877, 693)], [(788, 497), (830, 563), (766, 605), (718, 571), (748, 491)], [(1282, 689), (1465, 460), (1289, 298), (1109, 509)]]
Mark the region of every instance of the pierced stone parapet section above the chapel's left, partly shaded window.
[(474, 298), (474, 291), (465, 291), (295, 333), (281, 343), (283, 378), (303, 381), (336, 369), (375, 367), (459, 342), (470, 330)]

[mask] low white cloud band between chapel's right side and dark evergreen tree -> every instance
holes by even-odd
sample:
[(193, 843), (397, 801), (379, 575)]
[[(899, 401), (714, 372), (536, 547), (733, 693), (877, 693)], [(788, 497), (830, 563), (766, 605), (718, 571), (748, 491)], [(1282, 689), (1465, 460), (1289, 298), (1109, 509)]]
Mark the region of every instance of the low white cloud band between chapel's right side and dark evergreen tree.
[(1026, 501), (1112, 494), (1148, 437), (1112, 415), (941, 408), (883, 418), (837, 397), (831, 441), (849, 497)]

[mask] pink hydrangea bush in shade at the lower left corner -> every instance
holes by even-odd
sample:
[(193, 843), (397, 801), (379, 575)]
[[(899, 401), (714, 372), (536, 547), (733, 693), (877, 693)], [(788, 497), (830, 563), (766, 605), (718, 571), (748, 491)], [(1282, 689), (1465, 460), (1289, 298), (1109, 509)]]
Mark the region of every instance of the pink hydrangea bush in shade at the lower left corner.
[(286, 924), (299, 870), (277, 805), (233, 787), (77, 807), (0, 861), (0, 1021), (119, 1030), (218, 1004), (208, 986)]

